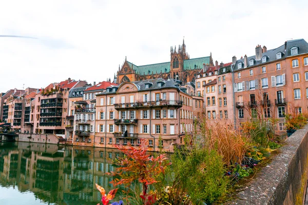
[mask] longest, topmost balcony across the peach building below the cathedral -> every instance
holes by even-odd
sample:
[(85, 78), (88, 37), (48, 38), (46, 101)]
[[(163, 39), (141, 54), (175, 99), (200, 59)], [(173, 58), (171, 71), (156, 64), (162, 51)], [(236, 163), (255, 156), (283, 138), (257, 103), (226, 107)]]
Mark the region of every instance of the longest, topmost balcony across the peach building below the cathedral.
[(180, 100), (159, 100), (149, 102), (137, 102), (137, 103), (123, 103), (114, 104), (114, 109), (126, 109), (126, 108), (148, 108), (148, 107), (182, 107), (183, 101)]

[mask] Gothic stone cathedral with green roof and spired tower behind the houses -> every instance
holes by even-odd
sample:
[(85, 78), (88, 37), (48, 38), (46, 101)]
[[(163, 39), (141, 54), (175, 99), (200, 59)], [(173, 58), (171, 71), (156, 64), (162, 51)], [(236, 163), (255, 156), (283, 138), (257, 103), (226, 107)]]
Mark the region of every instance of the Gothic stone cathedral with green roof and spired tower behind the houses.
[(204, 66), (214, 66), (213, 58), (210, 56), (189, 58), (186, 52), (186, 45), (179, 45), (170, 48), (170, 61), (166, 63), (150, 64), (144, 66), (136, 66), (126, 60), (122, 67), (117, 71), (117, 76), (114, 76), (114, 83), (124, 83), (126, 81), (138, 81), (153, 78), (173, 78), (182, 81), (182, 84), (195, 82), (195, 78), (200, 69)]

